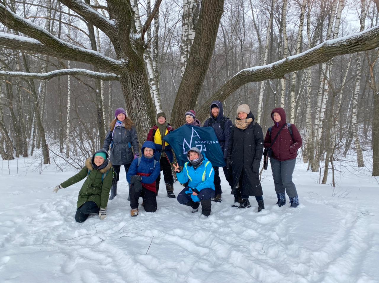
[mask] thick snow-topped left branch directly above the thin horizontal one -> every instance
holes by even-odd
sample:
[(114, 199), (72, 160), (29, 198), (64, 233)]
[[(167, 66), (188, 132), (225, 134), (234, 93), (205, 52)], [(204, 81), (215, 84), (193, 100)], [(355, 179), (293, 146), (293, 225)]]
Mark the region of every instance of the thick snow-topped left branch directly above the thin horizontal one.
[(67, 44), (58, 39), (53, 40), (57, 42), (51, 42), (52, 44), (49, 44), (50, 42), (45, 40), (48, 45), (44, 45), (35, 39), (9, 33), (0, 33), (0, 45), (13, 50), (30, 51), (32, 53), (50, 55), (64, 60), (84, 62), (113, 73), (118, 73), (120, 69), (123, 68), (124, 63), (108, 58), (99, 52)]

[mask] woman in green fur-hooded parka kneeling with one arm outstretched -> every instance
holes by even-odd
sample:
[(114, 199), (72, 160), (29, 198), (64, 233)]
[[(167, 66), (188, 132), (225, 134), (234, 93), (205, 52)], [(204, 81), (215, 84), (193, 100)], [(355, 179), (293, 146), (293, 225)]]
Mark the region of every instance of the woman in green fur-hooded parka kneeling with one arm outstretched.
[(75, 220), (84, 222), (91, 213), (98, 213), (100, 219), (104, 220), (113, 179), (113, 168), (104, 149), (96, 151), (86, 160), (86, 165), (78, 174), (56, 186), (53, 192), (58, 193), (58, 190), (67, 188), (85, 177), (87, 179), (79, 191)]

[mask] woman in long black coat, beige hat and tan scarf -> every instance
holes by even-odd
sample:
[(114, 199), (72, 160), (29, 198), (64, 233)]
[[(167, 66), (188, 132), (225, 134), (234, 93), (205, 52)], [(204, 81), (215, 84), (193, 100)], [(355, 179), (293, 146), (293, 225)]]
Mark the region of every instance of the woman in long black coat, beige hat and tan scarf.
[(232, 207), (251, 207), (249, 196), (255, 196), (258, 212), (265, 209), (259, 180), (259, 166), (263, 154), (263, 132), (255, 123), (247, 104), (237, 109), (237, 118), (230, 133), (227, 166), (232, 167), (234, 201)]

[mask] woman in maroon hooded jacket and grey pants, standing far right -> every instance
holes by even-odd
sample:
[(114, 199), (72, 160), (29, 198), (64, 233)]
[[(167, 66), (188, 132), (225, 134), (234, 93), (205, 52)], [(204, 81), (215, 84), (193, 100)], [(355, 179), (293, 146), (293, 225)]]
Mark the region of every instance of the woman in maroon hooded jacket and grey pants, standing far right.
[[(296, 126), (286, 122), (283, 108), (275, 108), (271, 112), (271, 118), (274, 120), (274, 126), (269, 128), (266, 133), (265, 148), (271, 147), (272, 150), (270, 163), (278, 197), (277, 204), (279, 207), (285, 205), (286, 191), (290, 198), (291, 207), (297, 207), (299, 197), (295, 184), (292, 182), (292, 173), (298, 155), (297, 151), (303, 142)], [(278, 133), (279, 135), (275, 140)]]

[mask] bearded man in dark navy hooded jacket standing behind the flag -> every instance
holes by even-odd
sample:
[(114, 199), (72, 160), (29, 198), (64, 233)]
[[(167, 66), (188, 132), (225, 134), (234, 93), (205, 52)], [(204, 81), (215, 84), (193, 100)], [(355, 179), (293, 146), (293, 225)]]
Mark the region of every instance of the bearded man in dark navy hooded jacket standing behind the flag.
[[(224, 117), (224, 110), (221, 101), (212, 101), (210, 105), (210, 118), (205, 121), (203, 127), (212, 127), (215, 130), (216, 137), (218, 139), (219, 145), (221, 146), (222, 152), (224, 153), (224, 160), (227, 157), (227, 148), (230, 142), (230, 131), (233, 127), (232, 121), (228, 117)], [(230, 188), (233, 187), (233, 177), (231, 168), (227, 166), (222, 167), (224, 170), (225, 179), (229, 183)], [(212, 201), (221, 202), (221, 179), (218, 173), (218, 167), (213, 167), (215, 170), (215, 197)]]

